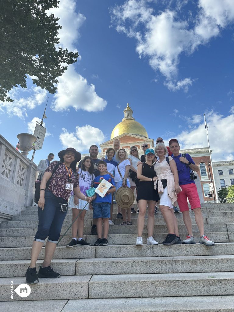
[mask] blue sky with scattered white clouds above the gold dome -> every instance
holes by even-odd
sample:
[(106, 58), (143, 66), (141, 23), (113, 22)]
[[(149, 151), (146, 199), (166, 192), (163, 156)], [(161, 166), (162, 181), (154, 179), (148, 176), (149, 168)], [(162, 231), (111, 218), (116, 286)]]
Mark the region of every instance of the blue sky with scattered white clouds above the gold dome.
[[(32, 85), (0, 102), (1, 134), (12, 145), (33, 133), (49, 96), (47, 136), (34, 162), (66, 147), (87, 153), (110, 139), (127, 103), (149, 138), (206, 147), (214, 161), (234, 159), (232, 0), (61, 0), (60, 46), (80, 58), (50, 95)], [(29, 153), (31, 158), (32, 152)]]

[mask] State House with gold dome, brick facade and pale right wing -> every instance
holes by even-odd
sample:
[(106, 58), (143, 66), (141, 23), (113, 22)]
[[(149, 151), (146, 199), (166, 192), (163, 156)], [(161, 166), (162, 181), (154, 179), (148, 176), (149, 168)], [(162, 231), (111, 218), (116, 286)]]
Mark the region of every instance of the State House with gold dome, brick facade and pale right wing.
[[(125, 149), (128, 154), (132, 145), (135, 145), (138, 148), (140, 156), (144, 154), (143, 150), (141, 149), (142, 144), (147, 143), (149, 148), (154, 149), (154, 139), (150, 139), (143, 125), (133, 118), (133, 110), (131, 107), (129, 107), (129, 104), (127, 104), (127, 107), (124, 109), (124, 118), (113, 129), (110, 140), (100, 144), (101, 153), (98, 154), (98, 158), (105, 156), (106, 150), (109, 147), (113, 147), (113, 141), (115, 139), (120, 140), (120, 147)], [(167, 142), (165, 142), (165, 144), (167, 145)], [(213, 198), (207, 197), (207, 194), (210, 193), (210, 180), (212, 179), (213, 181), (212, 168), (211, 166), (208, 166), (208, 162), (210, 162), (208, 147), (181, 149), (180, 152), (188, 153), (200, 168), (200, 170), (197, 172), (197, 175), (201, 182), (204, 201), (213, 200)], [(83, 154), (82, 158), (87, 155), (89, 154)], [(208, 167), (210, 168), (210, 172)], [(234, 185), (233, 160), (213, 162), (213, 168), (217, 190), (223, 187), (227, 187), (228, 185)]]

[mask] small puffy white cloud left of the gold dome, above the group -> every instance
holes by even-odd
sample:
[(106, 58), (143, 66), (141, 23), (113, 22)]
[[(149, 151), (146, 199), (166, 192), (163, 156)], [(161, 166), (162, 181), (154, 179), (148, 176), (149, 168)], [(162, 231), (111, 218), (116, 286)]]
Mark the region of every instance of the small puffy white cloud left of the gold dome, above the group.
[(62, 131), (59, 135), (62, 146), (74, 147), (80, 152), (89, 149), (92, 144), (99, 145), (105, 140), (103, 132), (89, 124), (83, 127), (76, 126), (75, 132), (70, 133), (65, 128)]

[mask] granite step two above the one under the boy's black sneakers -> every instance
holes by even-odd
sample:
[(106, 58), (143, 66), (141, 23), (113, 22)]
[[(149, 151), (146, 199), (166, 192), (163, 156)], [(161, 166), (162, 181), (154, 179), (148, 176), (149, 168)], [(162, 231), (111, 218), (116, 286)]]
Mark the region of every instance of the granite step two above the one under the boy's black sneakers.
[[(63, 235), (68, 227), (62, 227), (61, 235)], [(179, 233), (186, 233), (186, 227), (183, 224), (178, 225)], [(192, 230), (195, 232), (197, 230), (197, 225), (192, 225)], [(91, 231), (90, 227), (84, 227), (84, 235), (89, 235)], [(234, 224), (204, 224), (204, 231), (207, 232), (234, 232)], [(37, 227), (26, 227), (26, 228), (1, 228), (1, 237), (16, 237), (16, 236), (35, 236), (37, 232)], [(147, 226), (144, 226), (143, 233), (147, 233)], [(136, 234), (137, 226), (110, 226), (109, 234)], [(154, 233), (168, 233), (166, 225), (155, 225)], [(71, 235), (71, 228), (68, 230), (67, 235)]]

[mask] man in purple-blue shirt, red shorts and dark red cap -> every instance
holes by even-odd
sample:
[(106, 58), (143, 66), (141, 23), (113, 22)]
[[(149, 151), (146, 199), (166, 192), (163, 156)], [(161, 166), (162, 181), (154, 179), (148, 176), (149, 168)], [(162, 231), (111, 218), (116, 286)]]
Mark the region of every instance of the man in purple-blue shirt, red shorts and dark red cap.
[(197, 193), (197, 187), (193, 179), (191, 179), (191, 169), (198, 171), (198, 166), (194, 163), (193, 158), (189, 154), (185, 154), (185, 157), (182, 157), (180, 154), (180, 146), (177, 139), (171, 139), (169, 141), (169, 147), (173, 153), (173, 159), (176, 162), (178, 176), (179, 176), (179, 186), (182, 188), (182, 191), (177, 194), (177, 202), (180, 208), (180, 211), (183, 214), (183, 221), (188, 231), (188, 236), (186, 240), (183, 241), (183, 244), (195, 244), (195, 239), (193, 237), (192, 231), (192, 221), (189, 216), (188, 201), (191, 205), (191, 209), (195, 214), (195, 221), (197, 223), (199, 232), (200, 232), (200, 244), (206, 246), (214, 246), (214, 242), (210, 241), (209, 238), (204, 234), (204, 222), (201, 210), (201, 203)]

